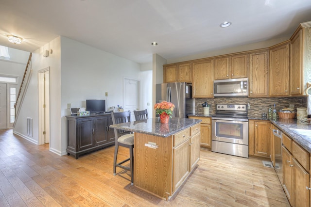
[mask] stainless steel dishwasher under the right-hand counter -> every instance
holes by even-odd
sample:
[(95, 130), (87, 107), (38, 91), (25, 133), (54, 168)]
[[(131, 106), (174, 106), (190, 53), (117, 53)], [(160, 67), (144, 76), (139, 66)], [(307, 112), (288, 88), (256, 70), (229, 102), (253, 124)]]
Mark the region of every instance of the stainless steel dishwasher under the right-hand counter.
[(274, 159), (276, 175), (281, 183), (283, 183), (283, 166), (282, 166), (282, 131), (276, 127), (272, 129), (274, 140)]

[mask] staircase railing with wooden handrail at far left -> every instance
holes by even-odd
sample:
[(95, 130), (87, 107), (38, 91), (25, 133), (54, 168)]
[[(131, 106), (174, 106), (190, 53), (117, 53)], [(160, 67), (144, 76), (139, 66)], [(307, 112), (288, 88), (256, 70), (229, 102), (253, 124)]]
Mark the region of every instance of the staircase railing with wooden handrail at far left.
[(18, 117), (18, 114), (19, 114), (19, 111), (20, 111), (20, 106), (21, 106), (21, 104), (23, 102), (23, 99), (24, 99), (24, 96), (25, 96), (25, 93), (26, 93), (26, 89), (28, 87), (28, 83), (29, 83), (31, 74), (33, 73), (31, 57), (32, 57), (32, 53), (29, 54), (28, 62), (27, 62), (26, 69), (25, 69), (25, 72), (24, 72), (24, 76), (23, 76), (23, 79), (22, 79), (22, 81), (20, 83), (19, 91), (18, 91), (17, 98), (16, 98), (16, 103), (14, 105), (14, 108), (15, 108), (15, 122), (14, 122), (13, 128), (15, 127), (15, 123), (16, 123), (16, 120), (17, 120), (17, 117)]

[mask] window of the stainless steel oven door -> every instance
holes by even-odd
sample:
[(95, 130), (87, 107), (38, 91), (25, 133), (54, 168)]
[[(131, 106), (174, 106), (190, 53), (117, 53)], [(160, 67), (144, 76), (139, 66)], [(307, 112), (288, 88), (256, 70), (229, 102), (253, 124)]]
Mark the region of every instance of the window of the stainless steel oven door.
[(216, 122), (216, 136), (243, 140), (243, 124)]

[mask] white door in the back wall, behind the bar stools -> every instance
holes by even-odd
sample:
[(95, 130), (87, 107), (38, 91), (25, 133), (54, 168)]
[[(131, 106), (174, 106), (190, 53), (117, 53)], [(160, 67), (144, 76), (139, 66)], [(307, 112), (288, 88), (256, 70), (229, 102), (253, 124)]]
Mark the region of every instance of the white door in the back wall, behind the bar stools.
[(135, 121), (134, 110), (139, 110), (139, 81), (124, 78), (124, 111), (131, 111), (132, 121)]

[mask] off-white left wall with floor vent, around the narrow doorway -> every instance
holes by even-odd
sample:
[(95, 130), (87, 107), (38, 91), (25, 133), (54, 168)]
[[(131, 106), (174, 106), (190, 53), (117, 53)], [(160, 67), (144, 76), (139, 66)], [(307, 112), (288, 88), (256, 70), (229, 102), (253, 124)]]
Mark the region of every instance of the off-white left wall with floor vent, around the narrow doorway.
[[(46, 49), (52, 49), (53, 54), (43, 57)], [(50, 150), (60, 154), (60, 37), (35, 50), (32, 54), (32, 76), (22, 102), (14, 133), (38, 143), (38, 71), (50, 67)], [(33, 137), (27, 136), (26, 118), (33, 118)]]

